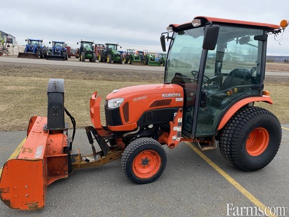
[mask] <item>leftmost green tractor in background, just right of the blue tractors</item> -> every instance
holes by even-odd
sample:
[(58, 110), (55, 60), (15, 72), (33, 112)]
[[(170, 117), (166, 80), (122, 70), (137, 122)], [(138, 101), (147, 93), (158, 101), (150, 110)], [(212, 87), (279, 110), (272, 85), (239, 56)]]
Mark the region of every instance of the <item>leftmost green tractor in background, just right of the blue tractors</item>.
[[(77, 54), (79, 56), (79, 61), (84, 62), (85, 59), (89, 59), (89, 62), (95, 62), (96, 61), (96, 55), (94, 52), (94, 46), (93, 41), (80, 41), (80, 48), (77, 51)], [(78, 42), (77, 42), (78, 44)]]

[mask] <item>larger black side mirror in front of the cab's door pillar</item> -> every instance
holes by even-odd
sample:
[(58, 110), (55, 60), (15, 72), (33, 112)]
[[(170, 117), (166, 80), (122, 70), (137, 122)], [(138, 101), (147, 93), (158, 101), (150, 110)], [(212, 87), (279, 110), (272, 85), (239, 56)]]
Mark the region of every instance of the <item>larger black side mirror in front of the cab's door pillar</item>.
[(203, 49), (215, 50), (219, 36), (220, 27), (217, 25), (206, 25), (204, 30)]

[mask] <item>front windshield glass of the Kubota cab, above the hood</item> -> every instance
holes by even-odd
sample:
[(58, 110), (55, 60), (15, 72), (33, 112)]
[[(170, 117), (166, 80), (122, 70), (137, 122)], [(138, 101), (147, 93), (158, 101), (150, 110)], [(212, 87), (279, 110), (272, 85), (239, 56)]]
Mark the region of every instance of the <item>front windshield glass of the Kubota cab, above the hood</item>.
[(200, 27), (174, 33), (168, 53), (165, 82), (171, 83), (176, 73), (192, 77), (194, 72), (199, 72), (203, 50), (203, 29)]

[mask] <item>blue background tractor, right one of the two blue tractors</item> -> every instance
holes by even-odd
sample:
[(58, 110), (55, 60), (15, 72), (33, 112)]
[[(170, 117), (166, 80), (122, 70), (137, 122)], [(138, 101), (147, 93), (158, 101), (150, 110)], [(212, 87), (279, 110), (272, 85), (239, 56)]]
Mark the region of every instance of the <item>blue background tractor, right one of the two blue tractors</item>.
[(49, 51), (49, 55), (47, 55), (47, 60), (68, 60), (67, 48), (65, 46), (65, 42), (52, 41), (52, 48)]

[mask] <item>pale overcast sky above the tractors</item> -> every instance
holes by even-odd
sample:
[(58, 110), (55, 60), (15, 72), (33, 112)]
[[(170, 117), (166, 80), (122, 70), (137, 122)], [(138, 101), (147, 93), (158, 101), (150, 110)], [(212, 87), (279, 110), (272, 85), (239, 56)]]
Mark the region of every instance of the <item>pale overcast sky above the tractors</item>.
[[(0, 28), (25, 44), (25, 38), (119, 43), (122, 49), (161, 51), (160, 34), (171, 23), (196, 16), (279, 24), (289, 19), (287, 0), (273, 1), (3, 1)], [(289, 28), (281, 45), (269, 36), (268, 55), (289, 56)]]

